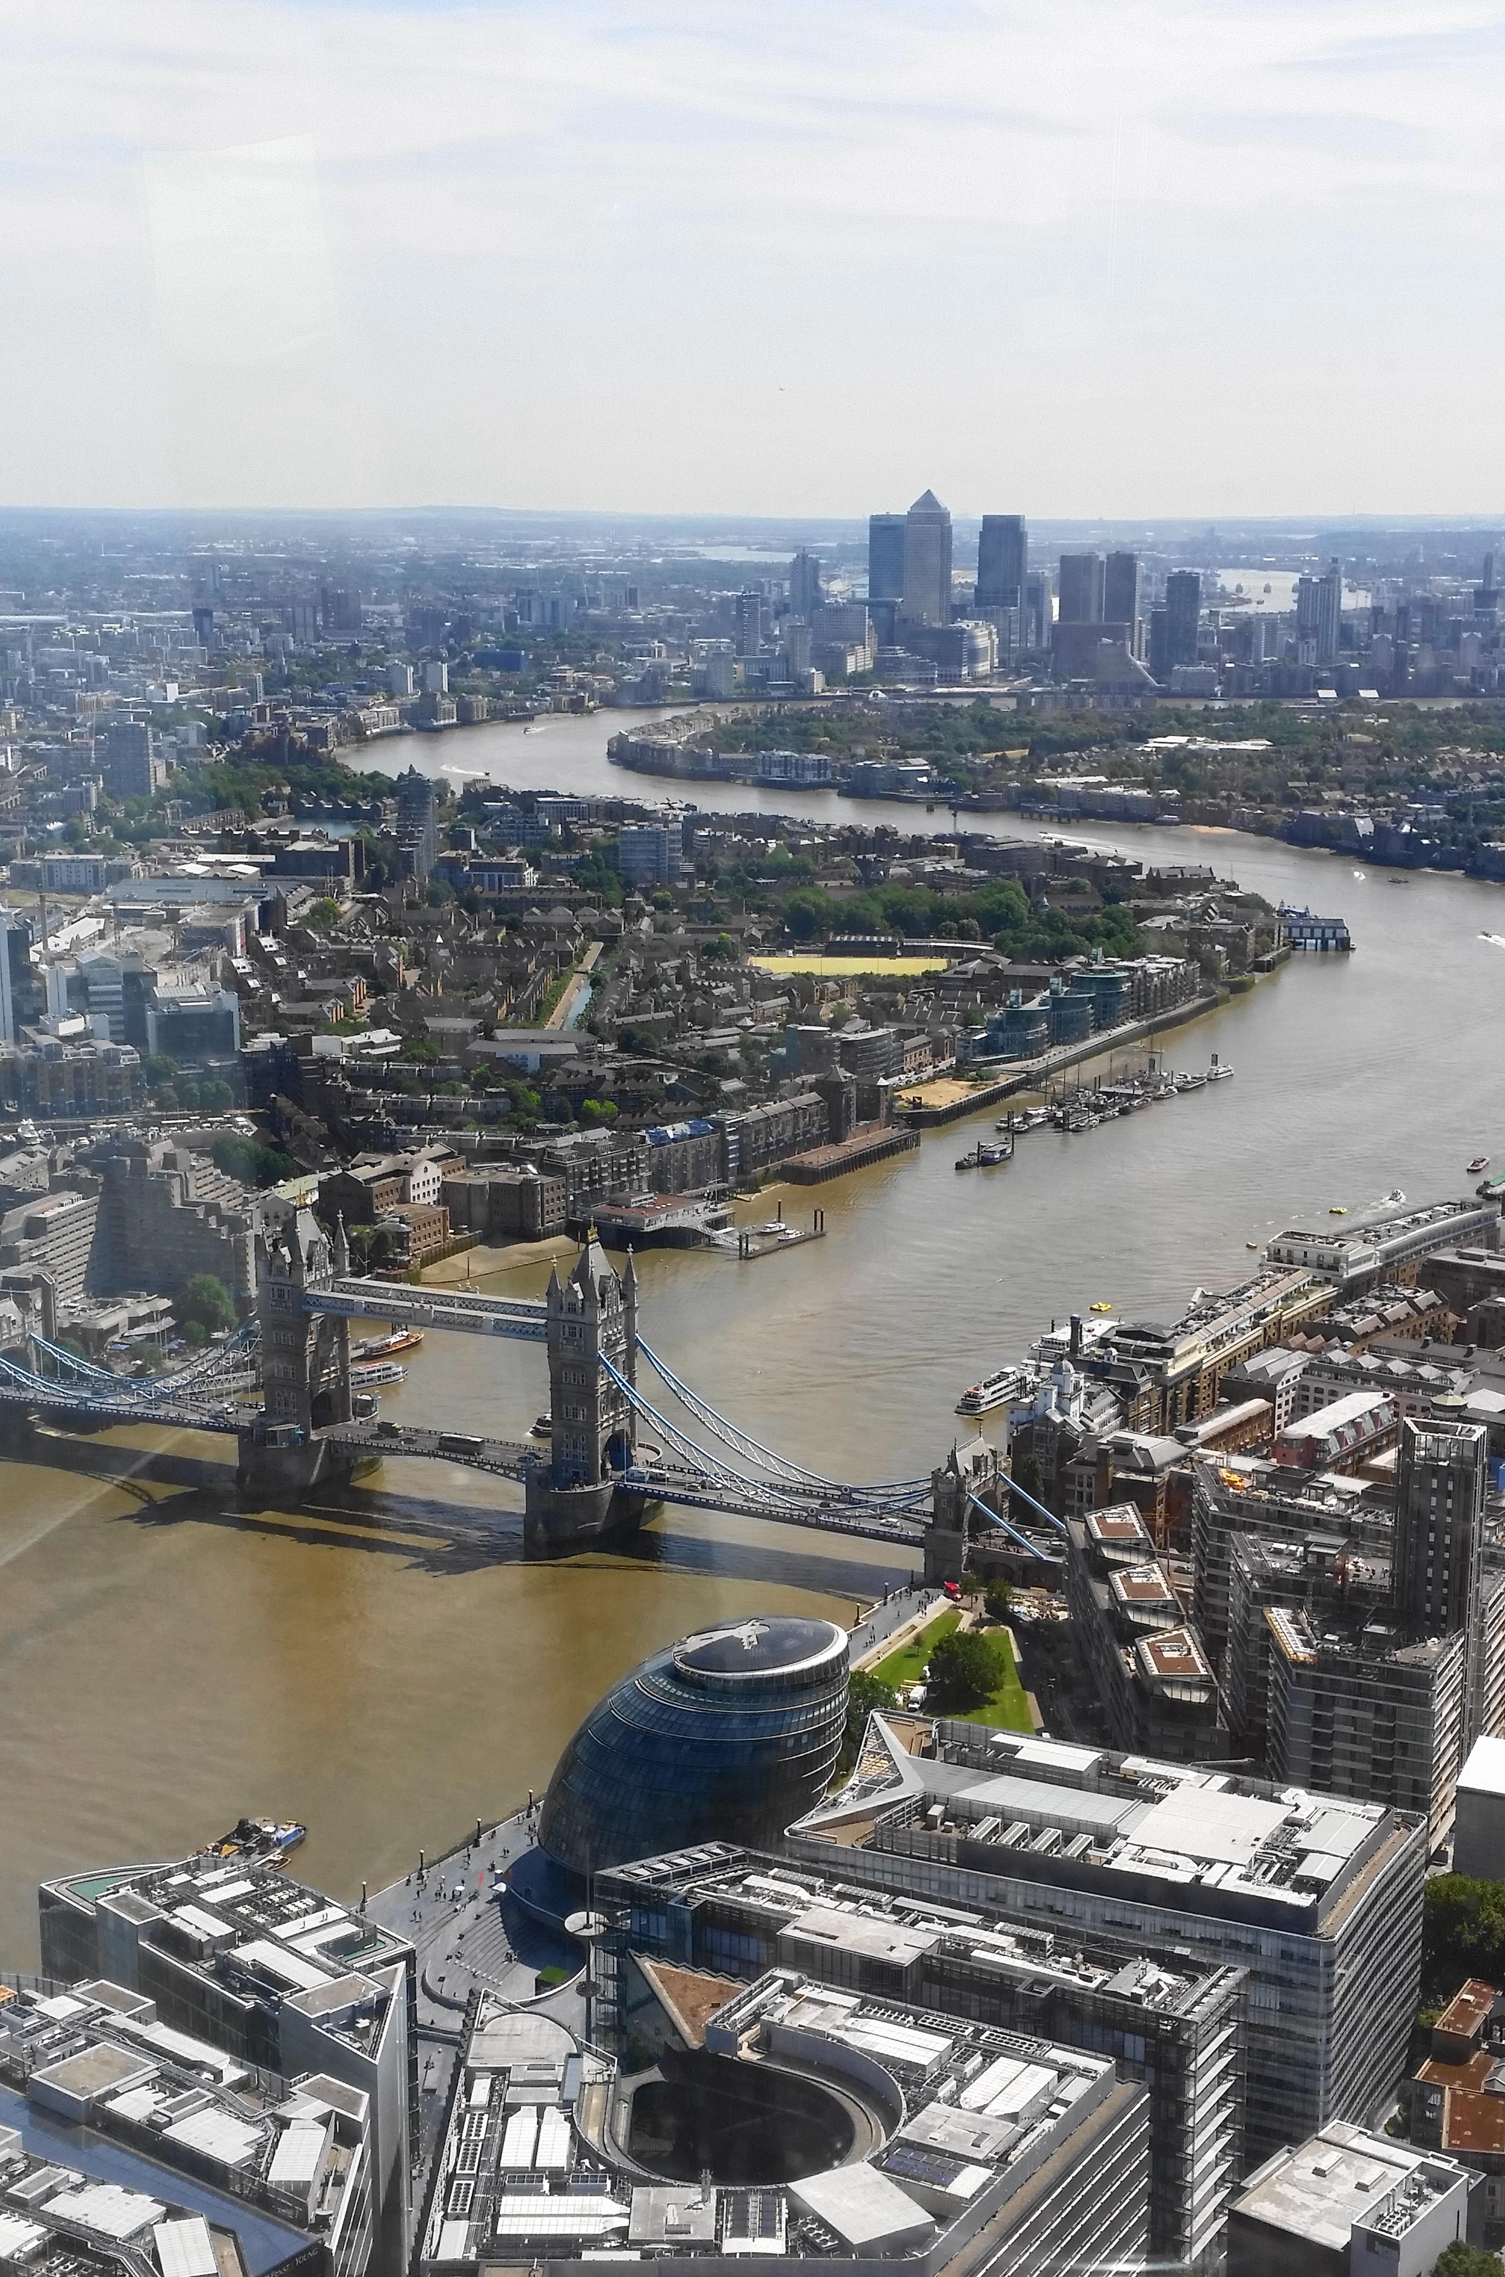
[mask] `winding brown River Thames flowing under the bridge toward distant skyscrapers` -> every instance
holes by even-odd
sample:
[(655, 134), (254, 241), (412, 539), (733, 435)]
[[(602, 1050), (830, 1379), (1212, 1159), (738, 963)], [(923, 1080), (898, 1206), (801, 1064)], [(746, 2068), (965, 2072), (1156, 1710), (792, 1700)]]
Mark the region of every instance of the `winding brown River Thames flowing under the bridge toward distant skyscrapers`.
[[(638, 720), (642, 715), (635, 715)], [(603, 713), (533, 731), (403, 738), (367, 756), (515, 788), (801, 813), (904, 831), (945, 811), (747, 786), (660, 786), (606, 763)], [(1018, 817), (970, 817), (1000, 836)], [(1072, 1309), (1168, 1318), (1227, 1287), (1280, 1225), (1327, 1225), (1400, 1186), (1469, 1191), (1505, 1150), (1505, 895), (1430, 872), (1391, 879), (1227, 831), (1084, 824), (1141, 861), (1204, 861), (1268, 899), (1343, 915), (1357, 954), (1293, 959), (1173, 1031), (1236, 1079), (1077, 1138), (1027, 1134), (1004, 1170), (956, 1177), (986, 1120), (822, 1186), (829, 1239), (738, 1264), (640, 1259), (642, 1330), (765, 1444), (840, 1478), (943, 1460), (961, 1389)], [(786, 1193), (801, 1223), (811, 1202)], [(531, 1296), (546, 1266), (492, 1287)], [(385, 1412), (519, 1437), (544, 1407), (542, 1355), (430, 1334)], [(134, 1439), (134, 1448), (128, 1444)], [(0, 1963), (36, 1949), (43, 1872), (175, 1856), (244, 1810), (310, 1822), (298, 1872), (342, 1897), (540, 1790), (583, 1710), (633, 1660), (726, 1612), (831, 1612), (904, 1578), (879, 1544), (667, 1514), (628, 1555), (526, 1564), (517, 1491), (444, 1464), (387, 1464), (344, 1507), (241, 1510), (223, 1441), (116, 1432), (73, 1469), (0, 1466)], [(162, 1475), (162, 1455), (189, 1464)], [(155, 1457), (148, 1464), (148, 1455)], [(435, 1514), (476, 1512), (460, 1542)]]

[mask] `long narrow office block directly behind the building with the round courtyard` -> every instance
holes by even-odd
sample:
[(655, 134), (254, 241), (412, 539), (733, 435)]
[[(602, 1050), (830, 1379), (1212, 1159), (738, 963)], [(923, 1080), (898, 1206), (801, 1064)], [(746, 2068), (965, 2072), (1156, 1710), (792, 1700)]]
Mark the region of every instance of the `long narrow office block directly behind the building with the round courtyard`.
[(879, 1894), (729, 1844), (597, 1874), (592, 1901), (603, 1929), (587, 2033), (626, 2072), (663, 2031), (665, 1970), (738, 1983), (801, 1970), (847, 1995), (1091, 2049), (1150, 2093), (1150, 2250), (1177, 2266), (1216, 2257), (1241, 2172), (1241, 1970)]

